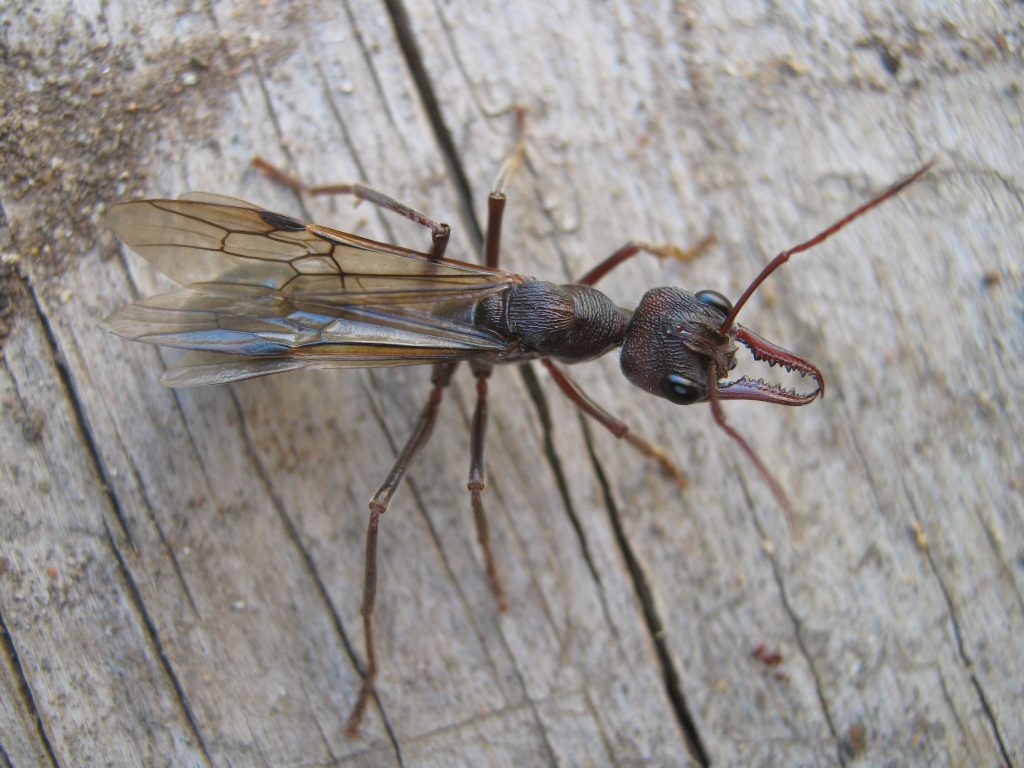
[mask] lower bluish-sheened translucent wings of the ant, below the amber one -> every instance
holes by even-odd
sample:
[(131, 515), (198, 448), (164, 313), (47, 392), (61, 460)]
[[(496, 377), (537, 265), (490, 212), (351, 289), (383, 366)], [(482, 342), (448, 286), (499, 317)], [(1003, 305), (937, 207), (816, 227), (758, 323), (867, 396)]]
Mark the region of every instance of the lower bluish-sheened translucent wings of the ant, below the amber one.
[(197, 350), (165, 375), (170, 386), (299, 368), (414, 366), (501, 354), (508, 342), (461, 322), (473, 301), (438, 305), (324, 304), (259, 286), (203, 284), (129, 304), (100, 327), (133, 341)]

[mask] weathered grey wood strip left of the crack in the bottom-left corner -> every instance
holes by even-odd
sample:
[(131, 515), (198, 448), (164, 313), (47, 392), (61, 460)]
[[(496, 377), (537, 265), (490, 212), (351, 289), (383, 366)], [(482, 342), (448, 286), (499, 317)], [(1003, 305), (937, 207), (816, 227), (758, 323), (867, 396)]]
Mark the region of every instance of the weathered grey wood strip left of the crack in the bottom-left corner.
[[(54, 757), (203, 765), (144, 608), (113, 551), (110, 500), (44, 330), (29, 297), (18, 301), (0, 378), (4, 753), (12, 765)], [(145, 731), (118, 727), (125, 713)]]

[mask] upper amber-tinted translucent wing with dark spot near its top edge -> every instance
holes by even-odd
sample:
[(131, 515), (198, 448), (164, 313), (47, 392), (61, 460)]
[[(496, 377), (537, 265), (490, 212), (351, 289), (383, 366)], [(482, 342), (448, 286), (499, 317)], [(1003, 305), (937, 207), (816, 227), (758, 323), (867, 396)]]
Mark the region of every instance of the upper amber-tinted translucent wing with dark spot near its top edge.
[(111, 208), (108, 224), (182, 286), (230, 283), (328, 303), (450, 300), (521, 278), (359, 238), (250, 203), (190, 193)]

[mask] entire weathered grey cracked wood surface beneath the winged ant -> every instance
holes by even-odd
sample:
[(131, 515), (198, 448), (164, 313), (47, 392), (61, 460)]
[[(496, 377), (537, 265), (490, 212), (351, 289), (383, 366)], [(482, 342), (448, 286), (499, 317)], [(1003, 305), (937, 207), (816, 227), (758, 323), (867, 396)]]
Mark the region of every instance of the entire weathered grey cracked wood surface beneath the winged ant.
[[(1024, 763), (1019, 3), (5, 5), (4, 765)], [(260, 153), (388, 190), (474, 258), (517, 103), (509, 268), (567, 280), (631, 238), (718, 234), (615, 272), (624, 304), (735, 296), (938, 163), (743, 314), (828, 380), (810, 408), (729, 408), (799, 540), (707, 408), (632, 390), (613, 355), (574, 371), (687, 468), (680, 494), (503, 370), (499, 616), (460, 377), (383, 522), (379, 698), (349, 740), (366, 500), (428, 372), (164, 389), (158, 352), (96, 328), (161, 287), (97, 214), (205, 188), (424, 242), (298, 201)]]

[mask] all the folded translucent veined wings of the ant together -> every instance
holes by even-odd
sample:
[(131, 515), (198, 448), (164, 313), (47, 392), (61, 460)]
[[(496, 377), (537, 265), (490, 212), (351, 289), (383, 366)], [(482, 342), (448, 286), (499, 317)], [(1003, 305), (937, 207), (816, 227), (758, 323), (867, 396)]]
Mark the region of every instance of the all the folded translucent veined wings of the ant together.
[(101, 324), (128, 339), (194, 350), (165, 374), (170, 386), (508, 348), (471, 317), (481, 298), (523, 280), (509, 272), (430, 259), (206, 193), (121, 204), (108, 221), (186, 286)]

